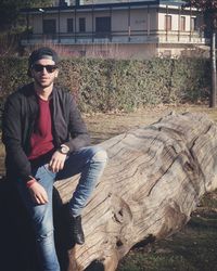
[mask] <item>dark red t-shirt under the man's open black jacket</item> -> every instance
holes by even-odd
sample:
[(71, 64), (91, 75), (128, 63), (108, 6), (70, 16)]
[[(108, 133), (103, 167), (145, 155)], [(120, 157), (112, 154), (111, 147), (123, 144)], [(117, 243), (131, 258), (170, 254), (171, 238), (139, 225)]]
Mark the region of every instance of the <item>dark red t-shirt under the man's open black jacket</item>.
[(36, 159), (53, 150), (52, 121), (50, 104), (51, 100), (44, 101), (38, 98), (39, 115), (36, 120), (34, 132), (30, 137), (30, 154), (28, 159)]

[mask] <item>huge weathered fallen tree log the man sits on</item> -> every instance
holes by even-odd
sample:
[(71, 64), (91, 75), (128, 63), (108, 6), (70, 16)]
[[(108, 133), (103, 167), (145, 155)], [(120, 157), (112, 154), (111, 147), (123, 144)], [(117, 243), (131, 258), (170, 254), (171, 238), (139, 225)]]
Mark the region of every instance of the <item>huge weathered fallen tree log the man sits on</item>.
[[(217, 125), (206, 115), (169, 115), (101, 145), (110, 160), (85, 209), (86, 244), (69, 250), (69, 271), (115, 270), (138, 242), (183, 227), (201, 196), (217, 188)], [(74, 179), (55, 184), (63, 204)]]

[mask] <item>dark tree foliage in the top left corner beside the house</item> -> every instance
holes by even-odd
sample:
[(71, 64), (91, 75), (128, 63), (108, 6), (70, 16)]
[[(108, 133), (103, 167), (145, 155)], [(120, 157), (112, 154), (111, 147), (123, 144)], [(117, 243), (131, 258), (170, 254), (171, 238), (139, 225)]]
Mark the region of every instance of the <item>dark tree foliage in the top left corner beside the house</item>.
[(17, 25), (22, 8), (49, 7), (52, 0), (1, 0), (0, 1), (0, 29), (11, 30)]

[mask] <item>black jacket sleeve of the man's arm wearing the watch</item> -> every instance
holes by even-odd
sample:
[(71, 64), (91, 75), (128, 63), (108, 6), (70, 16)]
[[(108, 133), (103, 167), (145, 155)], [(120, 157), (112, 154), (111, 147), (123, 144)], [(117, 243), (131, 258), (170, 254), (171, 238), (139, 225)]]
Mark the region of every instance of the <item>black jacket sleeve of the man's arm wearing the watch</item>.
[(69, 147), (71, 152), (90, 145), (90, 136), (72, 95), (69, 95), (68, 129), (71, 139), (64, 144)]

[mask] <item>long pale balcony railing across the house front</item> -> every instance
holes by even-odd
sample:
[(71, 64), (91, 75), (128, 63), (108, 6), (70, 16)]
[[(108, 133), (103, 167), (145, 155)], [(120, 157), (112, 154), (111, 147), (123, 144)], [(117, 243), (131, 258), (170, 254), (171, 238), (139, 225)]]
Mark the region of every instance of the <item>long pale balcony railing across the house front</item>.
[(55, 33), (26, 34), (22, 44), (35, 44), (50, 41), (61, 44), (91, 43), (205, 43), (203, 33), (197, 31), (164, 31), (131, 30), (110, 33)]

